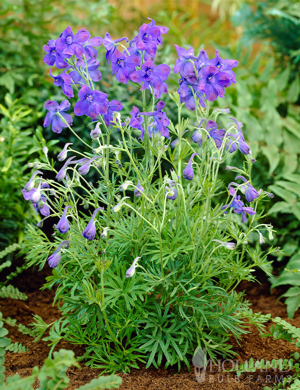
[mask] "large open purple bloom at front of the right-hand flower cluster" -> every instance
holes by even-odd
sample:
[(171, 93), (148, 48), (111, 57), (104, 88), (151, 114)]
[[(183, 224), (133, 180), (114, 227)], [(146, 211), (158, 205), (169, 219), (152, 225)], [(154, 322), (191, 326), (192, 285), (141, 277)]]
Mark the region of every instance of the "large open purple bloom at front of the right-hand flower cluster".
[(230, 84), (230, 80), (226, 73), (208, 65), (201, 70), (198, 89), (205, 94), (209, 102), (213, 102), (218, 96), (224, 97), (225, 88)]

